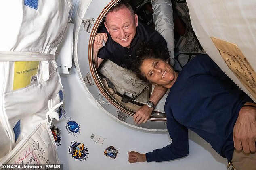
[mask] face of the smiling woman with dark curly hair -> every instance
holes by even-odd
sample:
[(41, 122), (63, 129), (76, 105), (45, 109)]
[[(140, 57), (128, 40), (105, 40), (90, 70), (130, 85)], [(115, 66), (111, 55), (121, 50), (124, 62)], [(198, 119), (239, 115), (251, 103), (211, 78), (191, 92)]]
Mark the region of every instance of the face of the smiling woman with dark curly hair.
[(174, 71), (172, 66), (162, 59), (145, 59), (140, 70), (149, 82), (166, 88), (171, 88), (178, 76), (178, 73)]

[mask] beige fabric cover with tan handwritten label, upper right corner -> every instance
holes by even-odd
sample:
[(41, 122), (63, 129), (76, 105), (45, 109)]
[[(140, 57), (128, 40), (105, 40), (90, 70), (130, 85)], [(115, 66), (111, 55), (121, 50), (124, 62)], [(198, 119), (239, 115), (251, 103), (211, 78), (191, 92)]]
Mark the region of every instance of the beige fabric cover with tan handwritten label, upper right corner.
[(256, 102), (256, 1), (187, 0), (202, 47)]

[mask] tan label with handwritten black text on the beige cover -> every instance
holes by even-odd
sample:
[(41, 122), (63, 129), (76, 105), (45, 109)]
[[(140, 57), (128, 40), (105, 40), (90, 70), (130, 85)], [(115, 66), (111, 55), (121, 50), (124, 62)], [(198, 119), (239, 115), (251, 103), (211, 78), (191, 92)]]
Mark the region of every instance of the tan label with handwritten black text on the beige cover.
[(230, 70), (256, 98), (256, 73), (238, 46), (214, 37), (211, 39)]

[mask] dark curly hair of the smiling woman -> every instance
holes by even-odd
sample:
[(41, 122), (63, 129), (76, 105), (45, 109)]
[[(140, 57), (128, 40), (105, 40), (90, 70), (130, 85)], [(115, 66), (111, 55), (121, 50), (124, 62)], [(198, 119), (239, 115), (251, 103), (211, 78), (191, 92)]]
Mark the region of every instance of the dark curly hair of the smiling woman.
[(134, 64), (132, 70), (134, 70), (138, 78), (149, 83), (145, 75), (141, 73), (143, 61), (149, 58), (160, 58), (164, 60), (167, 55), (169, 56), (169, 54), (166, 53), (166, 50), (159, 47), (159, 45), (156, 43), (153, 43), (152, 41), (142, 41), (136, 48), (136, 60), (133, 62)]

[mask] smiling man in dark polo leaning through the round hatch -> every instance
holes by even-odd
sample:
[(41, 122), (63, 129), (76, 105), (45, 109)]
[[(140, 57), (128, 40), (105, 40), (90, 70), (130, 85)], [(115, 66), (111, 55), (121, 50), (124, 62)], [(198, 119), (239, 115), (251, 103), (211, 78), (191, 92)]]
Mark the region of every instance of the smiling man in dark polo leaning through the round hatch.
[[(164, 38), (154, 29), (138, 22), (137, 14), (132, 7), (124, 2), (119, 2), (111, 8), (105, 16), (105, 31), (97, 33), (94, 38), (94, 61), (97, 68), (104, 59), (110, 59), (124, 68), (132, 69), (132, 63), (136, 59), (136, 47), (141, 41), (153, 41), (163, 51), (166, 51), (165, 59), (169, 58), (167, 43)], [(104, 47), (103, 47), (104, 45)], [(134, 115), (137, 124), (146, 123), (147, 119), (159, 100), (164, 96), (167, 89), (155, 86), (150, 102), (151, 106), (144, 105)]]

